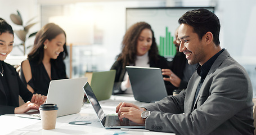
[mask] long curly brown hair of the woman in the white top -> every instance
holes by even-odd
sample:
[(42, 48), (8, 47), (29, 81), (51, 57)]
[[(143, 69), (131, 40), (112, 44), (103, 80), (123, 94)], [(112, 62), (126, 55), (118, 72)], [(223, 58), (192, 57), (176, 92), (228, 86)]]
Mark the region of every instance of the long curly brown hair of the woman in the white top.
[(137, 54), (137, 40), (144, 29), (150, 29), (152, 32), (152, 45), (149, 50), (149, 60), (158, 61), (158, 46), (155, 42), (154, 31), (151, 26), (146, 22), (137, 22), (133, 24), (125, 33), (122, 41), (122, 53), (118, 56), (117, 60), (123, 61), (123, 67), (127, 65), (134, 65)]

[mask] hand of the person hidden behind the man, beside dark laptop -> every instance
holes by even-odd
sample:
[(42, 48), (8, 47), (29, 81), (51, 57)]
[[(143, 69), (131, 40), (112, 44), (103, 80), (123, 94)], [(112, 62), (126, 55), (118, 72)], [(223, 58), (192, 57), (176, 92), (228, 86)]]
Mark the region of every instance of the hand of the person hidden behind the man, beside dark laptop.
[(181, 84), (181, 79), (179, 79), (179, 77), (176, 74), (174, 74), (172, 70), (162, 69), (161, 71), (163, 72), (162, 75), (169, 76), (169, 78), (164, 78), (165, 81), (169, 81), (173, 84), (173, 86), (179, 87), (179, 84)]

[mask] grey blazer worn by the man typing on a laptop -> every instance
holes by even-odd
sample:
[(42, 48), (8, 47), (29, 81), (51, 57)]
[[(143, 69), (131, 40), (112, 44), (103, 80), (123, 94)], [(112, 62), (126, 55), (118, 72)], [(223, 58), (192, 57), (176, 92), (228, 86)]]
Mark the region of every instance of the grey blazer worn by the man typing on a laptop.
[(250, 78), (227, 50), (212, 65), (194, 105), (199, 80), (195, 72), (185, 91), (144, 106), (152, 111), (146, 129), (196, 135), (253, 134)]

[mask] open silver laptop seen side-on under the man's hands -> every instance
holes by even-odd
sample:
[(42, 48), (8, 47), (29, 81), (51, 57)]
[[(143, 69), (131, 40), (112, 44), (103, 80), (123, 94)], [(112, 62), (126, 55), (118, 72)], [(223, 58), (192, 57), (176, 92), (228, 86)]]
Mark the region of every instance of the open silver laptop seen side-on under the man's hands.
[(83, 89), (104, 128), (145, 128), (144, 124), (137, 124), (125, 118), (120, 122), (118, 115), (106, 115), (88, 82), (84, 84)]

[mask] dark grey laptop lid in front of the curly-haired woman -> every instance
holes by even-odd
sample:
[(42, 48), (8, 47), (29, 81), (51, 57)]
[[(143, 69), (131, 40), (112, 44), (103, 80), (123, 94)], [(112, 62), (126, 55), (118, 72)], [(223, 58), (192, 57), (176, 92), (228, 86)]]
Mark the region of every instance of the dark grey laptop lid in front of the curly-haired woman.
[(167, 97), (163, 75), (160, 68), (125, 67), (132, 86), (135, 100), (155, 102)]

